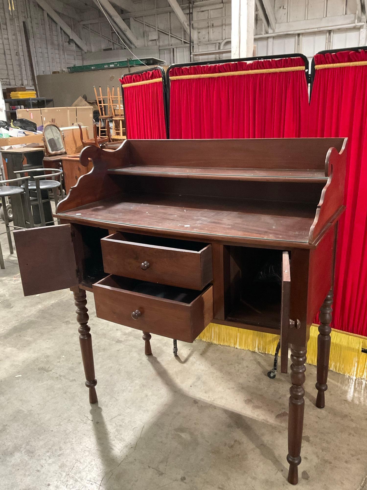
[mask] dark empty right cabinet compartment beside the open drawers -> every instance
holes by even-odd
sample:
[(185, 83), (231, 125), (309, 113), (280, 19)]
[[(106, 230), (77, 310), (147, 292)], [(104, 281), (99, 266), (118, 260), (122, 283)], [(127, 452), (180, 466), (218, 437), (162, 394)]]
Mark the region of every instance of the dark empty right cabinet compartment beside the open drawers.
[(228, 246), (226, 319), (280, 329), (282, 251)]

